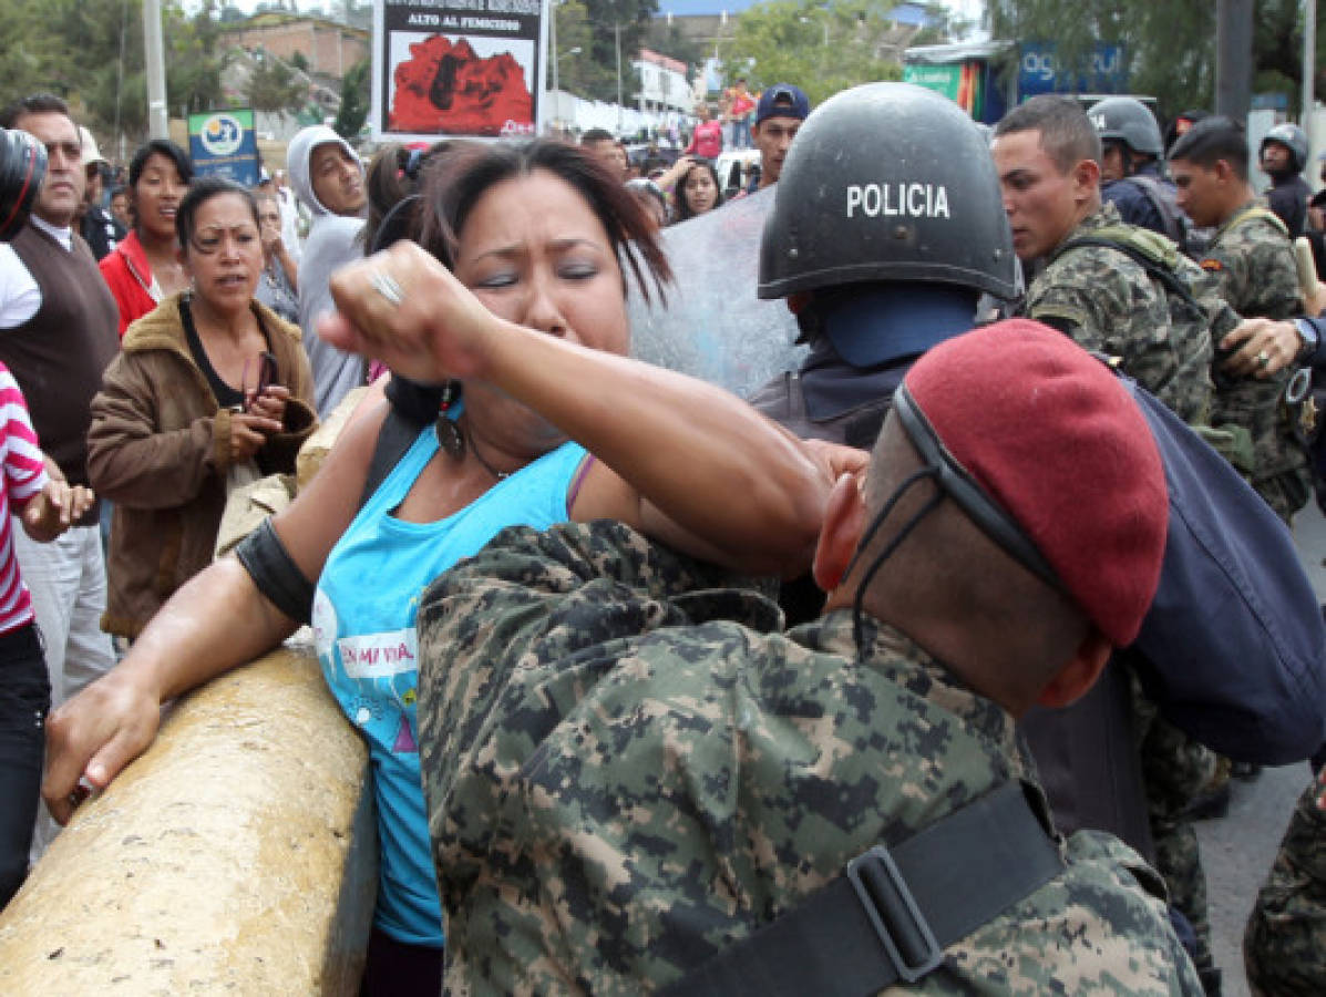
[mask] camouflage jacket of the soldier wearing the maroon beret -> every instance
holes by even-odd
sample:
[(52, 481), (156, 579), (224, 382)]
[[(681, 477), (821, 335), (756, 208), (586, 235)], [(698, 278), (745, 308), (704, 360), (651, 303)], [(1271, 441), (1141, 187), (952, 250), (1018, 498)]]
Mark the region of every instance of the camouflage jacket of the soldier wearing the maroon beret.
[[(1025, 774), (1013, 720), (898, 631), (777, 606), (621, 524), (514, 528), (419, 611), (446, 989), (636, 994)], [(1041, 799), (1044, 805), (1044, 798)], [(1106, 835), (952, 944), (924, 993), (1200, 993)], [(960, 903), (961, 898), (955, 898)]]

